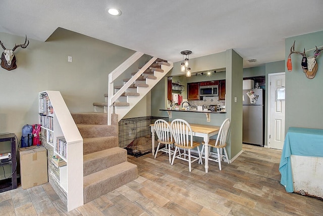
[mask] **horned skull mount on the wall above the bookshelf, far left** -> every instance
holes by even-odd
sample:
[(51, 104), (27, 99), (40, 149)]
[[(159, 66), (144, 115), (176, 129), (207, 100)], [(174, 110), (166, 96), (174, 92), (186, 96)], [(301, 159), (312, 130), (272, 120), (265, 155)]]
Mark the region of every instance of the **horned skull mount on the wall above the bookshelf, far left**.
[(7, 49), (4, 44), (0, 40), (0, 45), (4, 49), (4, 52), (1, 55), (1, 67), (5, 68), (6, 70), (13, 70), (17, 68), (16, 65), (16, 56), (14, 51), (18, 48), (26, 48), (29, 45), (29, 40), (27, 40), (27, 35), (24, 44), (15, 45), (12, 50)]

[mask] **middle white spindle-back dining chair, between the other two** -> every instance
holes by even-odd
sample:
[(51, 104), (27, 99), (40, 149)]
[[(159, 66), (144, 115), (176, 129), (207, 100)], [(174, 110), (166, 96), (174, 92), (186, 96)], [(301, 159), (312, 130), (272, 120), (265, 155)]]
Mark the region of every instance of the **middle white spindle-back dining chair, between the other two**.
[[(183, 119), (174, 119), (171, 122), (171, 131), (173, 133), (173, 138), (175, 140), (175, 151), (173, 155), (172, 165), (174, 164), (175, 158), (188, 161), (189, 171), (192, 169), (192, 163), (195, 161), (201, 161), (201, 153), (199, 149), (199, 142), (193, 141), (192, 128), (190, 124)], [(198, 156), (191, 155), (191, 149), (197, 148)], [(180, 149), (184, 149), (183, 153), (180, 152)], [(188, 150), (188, 154), (186, 153)], [(177, 151), (179, 152), (176, 155)], [(186, 158), (186, 156), (188, 158)], [(193, 160), (191, 158), (194, 158)]]

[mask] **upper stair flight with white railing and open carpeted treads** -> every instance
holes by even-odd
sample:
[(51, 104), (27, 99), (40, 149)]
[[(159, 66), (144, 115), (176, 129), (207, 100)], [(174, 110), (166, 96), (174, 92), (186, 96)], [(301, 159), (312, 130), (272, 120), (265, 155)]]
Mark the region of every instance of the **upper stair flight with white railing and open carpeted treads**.
[[(122, 119), (173, 68), (173, 62), (152, 57), (141, 69), (131, 73), (131, 78), (123, 79), (123, 85), (114, 85), (114, 81), (142, 55), (136, 52), (109, 74), (105, 101), (94, 102), (94, 112), (103, 111), (108, 113), (107, 116), (118, 114), (119, 120)], [(111, 124), (109, 117), (107, 124)]]

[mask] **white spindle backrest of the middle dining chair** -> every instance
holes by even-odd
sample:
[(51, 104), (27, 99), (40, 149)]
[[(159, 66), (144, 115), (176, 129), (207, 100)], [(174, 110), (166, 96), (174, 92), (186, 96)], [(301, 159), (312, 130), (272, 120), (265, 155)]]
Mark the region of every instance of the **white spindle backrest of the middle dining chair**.
[(193, 146), (192, 128), (187, 121), (174, 119), (171, 122), (171, 130), (177, 145), (182, 147)]

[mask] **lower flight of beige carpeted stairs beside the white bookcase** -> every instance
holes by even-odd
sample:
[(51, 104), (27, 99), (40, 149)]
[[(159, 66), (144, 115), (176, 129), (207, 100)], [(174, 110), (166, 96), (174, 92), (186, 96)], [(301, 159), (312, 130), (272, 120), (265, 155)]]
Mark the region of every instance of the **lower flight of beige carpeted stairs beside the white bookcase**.
[(119, 147), (118, 115), (106, 125), (107, 113), (75, 113), (72, 117), (83, 138), (84, 203), (137, 179), (137, 165), (127, 162)]

